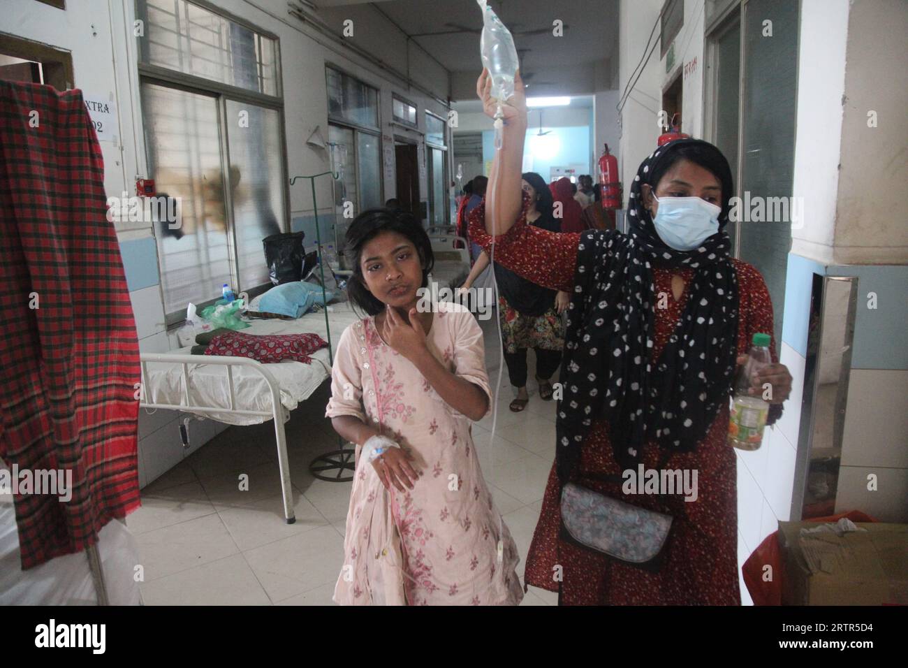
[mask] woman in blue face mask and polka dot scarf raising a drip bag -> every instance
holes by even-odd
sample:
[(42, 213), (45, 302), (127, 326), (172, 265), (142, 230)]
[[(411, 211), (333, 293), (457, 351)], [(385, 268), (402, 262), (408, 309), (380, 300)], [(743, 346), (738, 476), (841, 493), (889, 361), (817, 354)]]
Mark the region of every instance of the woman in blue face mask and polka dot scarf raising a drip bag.
[[(496, 262), (572, 295), (556, 463), (526, 583), (558, 591), (563, 604), (739, 604), (728, 404), (735, 363), (743, 361), (752, 334), (773, 332), (773, 314), (762, 276), (730, 255), (728, 163), (713, 145), (677, 140), (637, 170), (627, 234), (534, 229), (525, 223), (526, 198), (520, 201), (527, 123), (519, 77), (516, 84), (503, 107), (504, 148), (492, 165), (486, 201), (470, 218), (471, 234), (483, 247), (495, 242)], [(487, 72), (477, 92), (494, 115)], [(770, 385), (772, 424), (791, 376), (772, 364), (751, 382), (758, 394)], [(688, 472), (688, 479), (696, 471), (696, 488), (626, 494), (621, 475), (636, 473), (640, 464), (645, 471)], [(568, 482), (671, 515), (658, 570), (568, 543), (560, 516)]]

